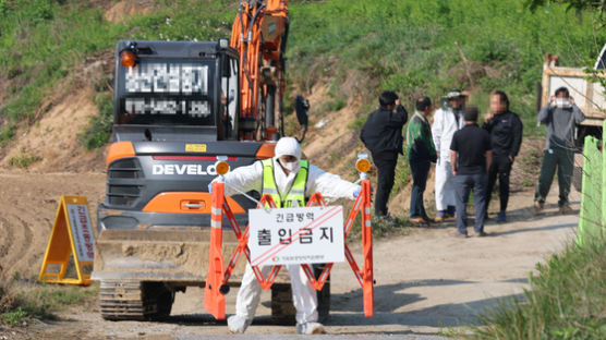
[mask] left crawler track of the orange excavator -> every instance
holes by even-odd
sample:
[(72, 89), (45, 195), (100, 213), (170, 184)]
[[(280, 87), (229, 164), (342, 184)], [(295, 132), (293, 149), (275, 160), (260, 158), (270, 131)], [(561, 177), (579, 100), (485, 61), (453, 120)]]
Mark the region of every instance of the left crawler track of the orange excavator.
[(170, 315), (174, 292), (160, 282), (102, 280), (99, 291), (106, 320), (148, 320)]

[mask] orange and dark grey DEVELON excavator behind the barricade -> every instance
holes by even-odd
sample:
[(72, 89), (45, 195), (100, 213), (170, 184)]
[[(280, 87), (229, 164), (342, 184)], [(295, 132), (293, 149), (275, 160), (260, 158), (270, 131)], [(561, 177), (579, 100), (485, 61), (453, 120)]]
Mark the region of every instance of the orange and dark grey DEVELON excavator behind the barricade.
[[(242, 1), (231, 40), (122, 40), (105, 202), (92, 278), (106, 319), (168, 316), (178, 291), (205, 287), (218, 157), (231, 168), (274, 156), (283, 135), (287, 0)], [(308, 105), (295, 100), (306, 126)], [(304, 136), (304, 133), (303, 133)], [(225, 158), (223, 158), (225, 157)], [(240, 226), (260, 193), (228, 198)], [(223, 226), (229, 226), (227, 221)], [(223, 252), (238, 246), (226, 232)], [(238, 286), (240, 260), (230, 284)], [(329, 286), (318, 293), (328, 313)], [(271, 288), (272, 315), (294, 320), (290, 283)], [(201, 306), (202, 307), (202, 306)]]

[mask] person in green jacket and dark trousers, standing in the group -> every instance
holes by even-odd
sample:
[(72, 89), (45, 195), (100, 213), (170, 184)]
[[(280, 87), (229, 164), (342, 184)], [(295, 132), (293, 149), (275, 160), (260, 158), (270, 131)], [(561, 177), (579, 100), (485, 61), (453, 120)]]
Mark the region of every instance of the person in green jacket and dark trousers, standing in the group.
[(410, 221), (428, 223), (432, 221), (423, 206), (423, 192), (427, 184), (427, 174), (437, 154), (432, 137), (432, 127), (427, 117), (432, 113), (432, 100), (421, 97), (416, 100), (416, 111), (407, 129), (407, 154), (412, 173), (412, 192), (410, 197)]

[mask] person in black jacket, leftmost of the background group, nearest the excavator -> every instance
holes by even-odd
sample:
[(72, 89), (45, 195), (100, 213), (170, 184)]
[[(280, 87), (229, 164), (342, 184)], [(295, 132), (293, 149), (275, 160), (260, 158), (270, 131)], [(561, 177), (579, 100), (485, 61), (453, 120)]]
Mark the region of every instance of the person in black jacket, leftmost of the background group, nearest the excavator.
[[(368, 116), (360, 133), (360, 139), (373, 156), (378, 169), (375, 216), (387, 216), (387, 199), (393, 187), (398, 154), (403, 155), (402, 127), (408, 112), (400, 105), (395, 92), (386, 90), (379, 96), (379, 109)], [(393, 111), (396, 110), (396, 111)]]

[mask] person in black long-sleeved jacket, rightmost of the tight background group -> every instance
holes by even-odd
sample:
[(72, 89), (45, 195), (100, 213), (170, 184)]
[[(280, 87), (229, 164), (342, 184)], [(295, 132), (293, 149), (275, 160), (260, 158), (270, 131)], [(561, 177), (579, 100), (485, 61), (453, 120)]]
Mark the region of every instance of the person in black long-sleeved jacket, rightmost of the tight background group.
[(483, 127), (490, 133), (493, 146), (493, 161), (488, 169), (488, 190), (486, 191), (486, 217), (493, 187), (499, 179), (500, 209), (497, 222), (507, 221), (505, 211), (509, 201), (509, 174), (516, 156), (522, 144), (522, 121), (520, 117), (509, 111), (509, 98), (502, 90), (496, 90), (490, 96), (490, 113), (485, 117)]

